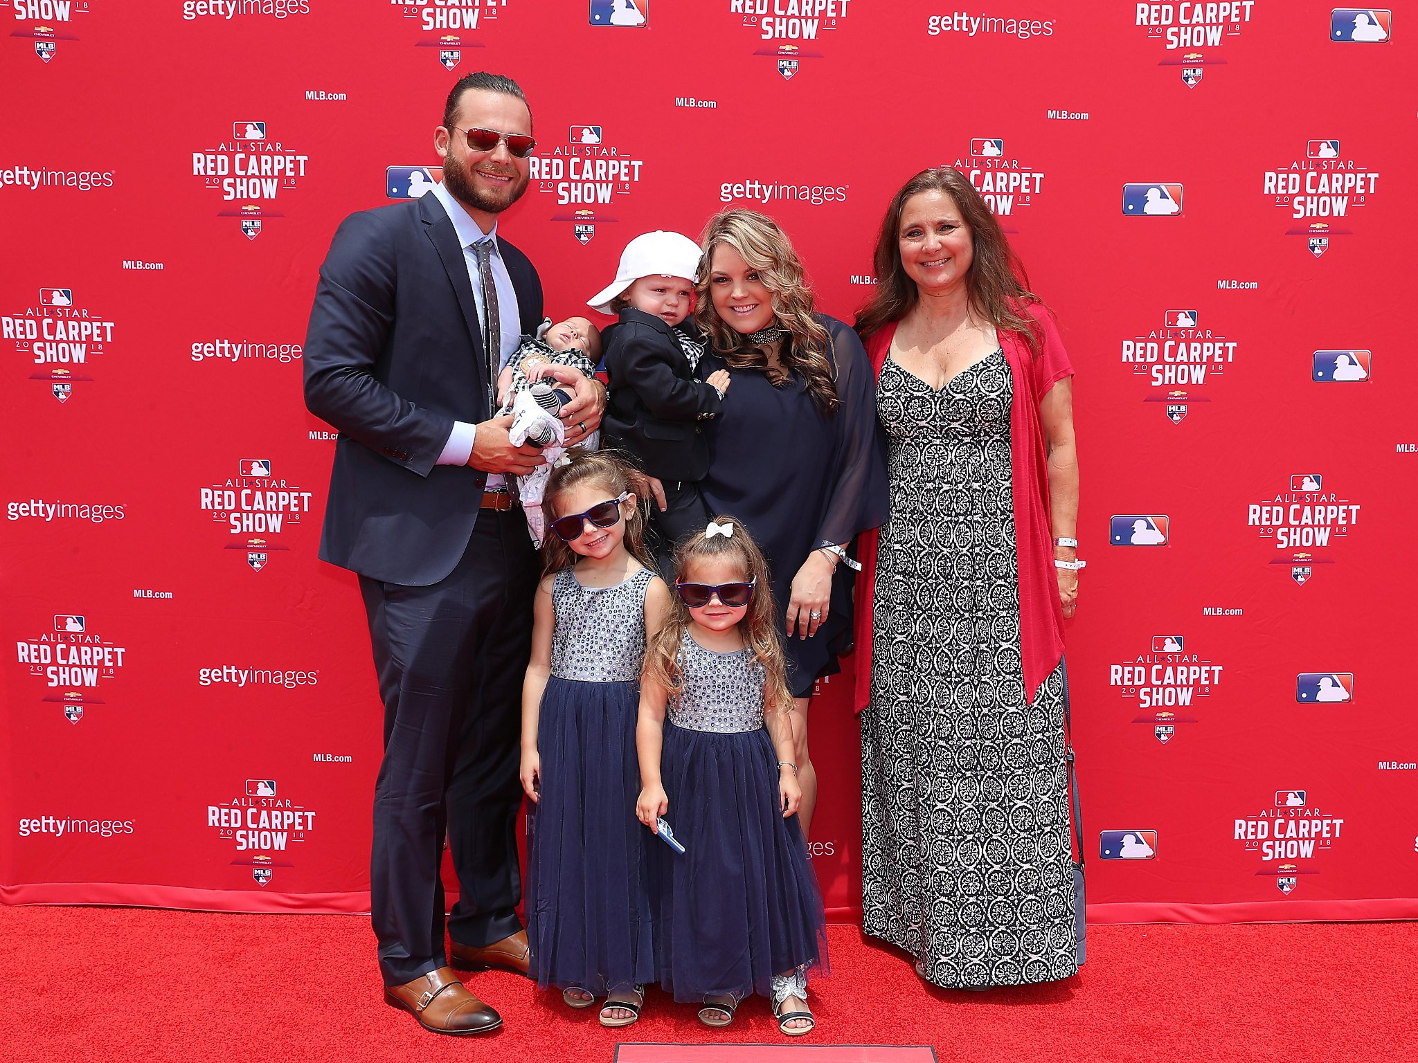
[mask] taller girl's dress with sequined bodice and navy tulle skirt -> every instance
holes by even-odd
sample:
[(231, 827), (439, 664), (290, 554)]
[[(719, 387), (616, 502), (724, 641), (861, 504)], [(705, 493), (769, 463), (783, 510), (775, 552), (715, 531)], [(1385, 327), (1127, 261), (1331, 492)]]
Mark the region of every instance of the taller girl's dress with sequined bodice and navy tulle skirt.
[(563, 568), (552, 584), (552, 676), (537, 723), (542, 799), (527, 815), (530, 975), (543, 988), (600, 996), (654, 981), (654, 838), (635, 819), (635, 720), (654, 577), (641, 568), (614, 587), (583, 587)]

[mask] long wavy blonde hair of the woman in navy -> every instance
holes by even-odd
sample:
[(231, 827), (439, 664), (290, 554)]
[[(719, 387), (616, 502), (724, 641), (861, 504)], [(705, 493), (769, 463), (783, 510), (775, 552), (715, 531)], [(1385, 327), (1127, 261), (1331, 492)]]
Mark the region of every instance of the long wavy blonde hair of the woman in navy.
[[(770, 370), (767, 354), (749, 343), (747, 336), (729, 327), (713, 309), (710, 265), (715, 248), (720, 244), (737, 251), (771, 293), (773, 313), (788, 332), (778, 353), (786, 371)], [(774, 387), (787, 384), (797, 370), (814, 405), (824, 414), (835, 412), (837, 367), (828, 357), (832, 336), (813, 316), (813, 289), (808, 288), (803, 262), (787, 234), (767, 214), (726, 210), (709, 218), (699, 237), (699, 247), (703, 258), (699, 261), (699, 282), (695, 285), (695, 320), (713, 349), (732, 369), (759, 370)]]

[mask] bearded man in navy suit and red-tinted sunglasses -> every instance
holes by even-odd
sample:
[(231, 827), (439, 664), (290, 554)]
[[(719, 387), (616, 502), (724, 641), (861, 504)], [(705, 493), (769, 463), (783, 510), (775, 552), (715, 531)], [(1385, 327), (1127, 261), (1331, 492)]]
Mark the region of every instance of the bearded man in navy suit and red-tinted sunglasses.
[[(427, 196), (346, 218), (320, 266), (305, 401), (339, 429), (320, 557), (359, 573), (384, 702), (370, 907), (389, 1003), (438, 1033), (502, 1018), (448, 967), (527, 969), (515, 822), (537, 560), (509, 480), (542, 463), (493, 417), (498, 371), (542, 320), (542, 282), (498, 232), (527, 186), (522, 89), (469, 74), (448, 95)], [(560, 370), (567, 441), (604, 391)]]

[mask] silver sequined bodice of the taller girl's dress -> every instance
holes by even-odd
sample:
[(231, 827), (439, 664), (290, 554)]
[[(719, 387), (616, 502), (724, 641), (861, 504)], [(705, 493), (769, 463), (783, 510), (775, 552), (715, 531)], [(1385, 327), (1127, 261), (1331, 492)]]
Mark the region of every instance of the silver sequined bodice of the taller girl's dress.
[(586, 587), (570, 568), (556, 574), (552, 607), (552, 675), (580, 683), (640, 679), (645, 659), (645, 590), (655, 573), (641, 568), (613, 587)]

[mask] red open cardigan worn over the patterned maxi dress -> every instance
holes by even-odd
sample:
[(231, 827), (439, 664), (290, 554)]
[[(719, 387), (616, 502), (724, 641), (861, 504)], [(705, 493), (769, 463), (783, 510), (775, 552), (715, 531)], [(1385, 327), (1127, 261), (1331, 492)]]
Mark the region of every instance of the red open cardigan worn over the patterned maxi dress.
[[(1042, 306), (1024, 312), (1044, 330), (1044, 350), (1035, 359), (1017, 333), (1001, 332), (1000, 346), (1014, 378), (1010, 407), (1011, 465), (1014, 472), (1014, 541), (1020, 566), (1020, 643), (1024, 653), (1024, 690), (1032, 703), (1039, 685), (1064, 656), (1064, 609), (1054, 573), (1054, 533), (1049, 526), (1049, 482), (1045, 468), (1044, 425), (1039, 400), (1054, 384), (1073, 376), (1058, 326)], [(888, 325), (866, 342), (876, 378), (881, 378), (896, 325)], [(856, 712), (871, 696), (872, 597), (876, 587), (878, 530), (858, 539), (862, 571), (856, 577)]]

